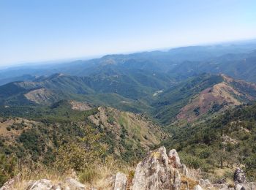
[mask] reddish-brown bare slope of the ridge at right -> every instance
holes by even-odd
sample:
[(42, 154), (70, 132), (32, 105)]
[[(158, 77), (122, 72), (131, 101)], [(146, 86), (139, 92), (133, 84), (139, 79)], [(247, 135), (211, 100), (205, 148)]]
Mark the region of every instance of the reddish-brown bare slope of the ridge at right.
[(215, 113), (227, 109), (227, 107), (256, 99), (254, 83), (234, 80), (225, 75), (221, 76), (223, 78), (221, 83), (206, 88), (194, 96), (189, 104), (181, 108), (177, 115), (178, 120), (194, 121), (206, 113)]

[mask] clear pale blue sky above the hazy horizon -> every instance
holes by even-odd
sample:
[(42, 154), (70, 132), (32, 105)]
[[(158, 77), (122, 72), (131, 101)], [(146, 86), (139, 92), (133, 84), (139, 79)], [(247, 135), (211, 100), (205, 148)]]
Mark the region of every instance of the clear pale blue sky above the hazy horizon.
[(255, 0), (0, 0), (0, 66), (238, 39)]

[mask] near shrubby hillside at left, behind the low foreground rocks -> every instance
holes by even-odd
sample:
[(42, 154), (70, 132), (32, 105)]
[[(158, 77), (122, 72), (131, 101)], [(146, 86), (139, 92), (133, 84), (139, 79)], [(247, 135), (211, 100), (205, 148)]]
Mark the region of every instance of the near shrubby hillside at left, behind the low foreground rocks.
[(72, 110), (67, 101), (1, 113), (0, 186), (18, 173), (24, 180), (42, 178), (33, 177), (36, 172), (58, 180), (72, 170), (80, 181), (96, 183), (119, 167), (129, 172), (162, 134), (143, 115), (108, 107)]

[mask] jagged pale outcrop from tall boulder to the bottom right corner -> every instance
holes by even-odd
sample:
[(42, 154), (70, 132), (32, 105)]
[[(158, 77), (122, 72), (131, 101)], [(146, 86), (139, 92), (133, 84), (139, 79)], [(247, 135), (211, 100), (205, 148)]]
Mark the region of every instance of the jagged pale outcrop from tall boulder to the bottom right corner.
[(167, 155), (165, 147), (161, 147), (150, 151), (137, 165), (130, 189), (251, 190), (256, 189), (256, 183), (246, 183), (245, 173), (240, 168), (234, 173), (234, 185), (227, 184), (225, 178), (214, 184), (207, 179), (196, 180), (194, 172), (181, 164), (175, 149)]

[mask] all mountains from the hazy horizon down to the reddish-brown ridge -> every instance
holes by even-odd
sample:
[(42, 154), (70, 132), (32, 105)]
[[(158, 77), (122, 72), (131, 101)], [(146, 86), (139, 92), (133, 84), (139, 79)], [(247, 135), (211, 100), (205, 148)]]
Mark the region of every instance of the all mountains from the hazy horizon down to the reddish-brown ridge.
[(254, 100), (255, 85), (249, 82), (256, 81), (255, 62), (256, 42), (251, 41), (14, 67), (0, 72), (0, 82), (6, 83), (0, 86), (0, 104), (37, 106), (67, 99), (145, 112), (164, 124), (194, 121)]

